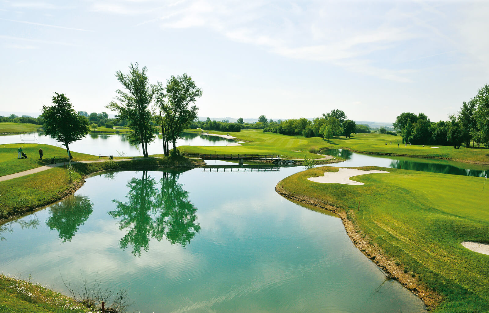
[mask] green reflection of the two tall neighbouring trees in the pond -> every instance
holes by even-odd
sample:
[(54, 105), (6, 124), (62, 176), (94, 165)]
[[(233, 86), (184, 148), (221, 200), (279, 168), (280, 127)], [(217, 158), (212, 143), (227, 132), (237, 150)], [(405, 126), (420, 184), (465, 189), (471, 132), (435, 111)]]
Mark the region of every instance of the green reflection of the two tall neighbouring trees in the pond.
[(112, 200), (117, 209), (109, 214), (122, 218), (119, 228), (127, 230), (119, 241), (122, 249), (132, 245), (133, 255), (140, 256), (141, 248), (149, 250), (151, 238), (161, 241), (165, 237), (172, 244), (185, 246), (200, 231), (197, 208), (188, 200), (189, 193), (178, 178), (176, 173), (164, 172), (157, 182), (144, 171), (141, 179), (133, 178), (127, 184), (130, 190), (126, 202)]

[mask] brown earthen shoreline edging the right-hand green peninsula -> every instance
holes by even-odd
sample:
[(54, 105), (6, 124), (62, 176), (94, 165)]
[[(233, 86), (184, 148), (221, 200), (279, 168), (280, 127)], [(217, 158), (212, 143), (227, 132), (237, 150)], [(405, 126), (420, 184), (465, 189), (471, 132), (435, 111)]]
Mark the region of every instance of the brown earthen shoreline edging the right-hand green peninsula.
[(380, 247), (369, 243), (370, 240), (368, 235), (365, 234), (364, 237), (362, 236), (363, 231), (357, 227), (354, 220), (352, 221), (348, 218), (348, 213), (353, 213), (353, 216), (355, 216), (354, 210), (351, 209), (347, 212), (341, 207), (325, 203), (315, 198), (291, 195), (285, 188), (281, 187), (280, 181), (275, 185), (275, 191), (289, 200), (312, 205), (339, 216), (348, 237), (350, 237), (350, 240), (360, 252), (375, 263), (378, 268), (381, 268), (388, 273), (390, 278), (397, 280), (403, 287), (418, 296), (423, 301), (427, 311), (435, 309), (441, 303), (443, 297), (440, 294), (424, 285), (417, 277), (412, 277), (410, 274), (404, 273), (404, 268), (400, 265), (396, 265), (396, 260), (387, 258)]

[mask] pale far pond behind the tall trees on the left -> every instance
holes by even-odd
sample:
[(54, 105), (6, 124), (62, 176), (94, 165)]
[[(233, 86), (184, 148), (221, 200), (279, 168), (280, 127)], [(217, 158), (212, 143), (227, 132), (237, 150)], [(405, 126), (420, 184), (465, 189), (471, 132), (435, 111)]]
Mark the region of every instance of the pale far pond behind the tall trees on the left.
[[(183, 139), (177, 140), (178, 146), (225, 146), (229, 143), (242, 141), (230, 140), (217, 136), (200, 135), (195, 133), (183, 133)], [(46, 145), (61, 146), (51, 136), (44, 136), (43, 133), (16, 134), (0, 136), (0, 144), (5, 143), (42, 143)], [(64, 147), (63, 147), (64, 148)], [(139, 149), (129, 144), (125, 134), (88, 134), (85, 138), (69, 145), (69, 149), (75, 152), (86, 153), (89, 155), (103, 156), (142, 156)], [(150, 155), (163, 154), (163, 141), (156, 138), (148, 145)], [(122, 155), (124, 156), (124, 155)]]

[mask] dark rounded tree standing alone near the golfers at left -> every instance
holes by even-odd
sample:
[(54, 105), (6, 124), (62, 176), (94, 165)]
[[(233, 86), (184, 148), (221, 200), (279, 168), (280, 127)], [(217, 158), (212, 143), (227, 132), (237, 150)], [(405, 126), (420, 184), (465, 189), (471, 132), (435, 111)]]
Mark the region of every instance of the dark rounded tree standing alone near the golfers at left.
[(82, 139), (89, 133), (89, 121), (71, 108), (71, 103), (64, 93), (55, 92), (54, 94), (52, 97), (54, 105), (43, 106), (41, 114), (44, 120), (44, 135), (51, 135), (56, 138), (56, 141), (63, 142), (68, 157), (72, 158), (69, 144)]

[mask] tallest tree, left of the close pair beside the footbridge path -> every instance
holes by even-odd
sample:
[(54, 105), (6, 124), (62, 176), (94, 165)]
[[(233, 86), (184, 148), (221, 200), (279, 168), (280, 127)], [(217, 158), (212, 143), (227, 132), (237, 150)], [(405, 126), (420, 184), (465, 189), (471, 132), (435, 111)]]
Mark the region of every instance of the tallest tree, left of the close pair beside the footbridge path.
[[(115, 78), (127, 90), (116, 89), (117, 96), (106, 108), (117, 112), (115, 118), (128, 121), (128, 127), (132, 132), (126, 136), (132, 145), (141, 145), (143, 156), (148, 156), (148, 143), (152, 142), (156, 135), (156, 127), (152, 125), (152, 114), (149, 109), (153, 101), (153, 88), (151, 87), (147, 68), (139, 70), (136, 63), (129, 67), (126, 75), (121, 71), (115, 73)], [(91, 114), (90, 114), (91, 115)]]

